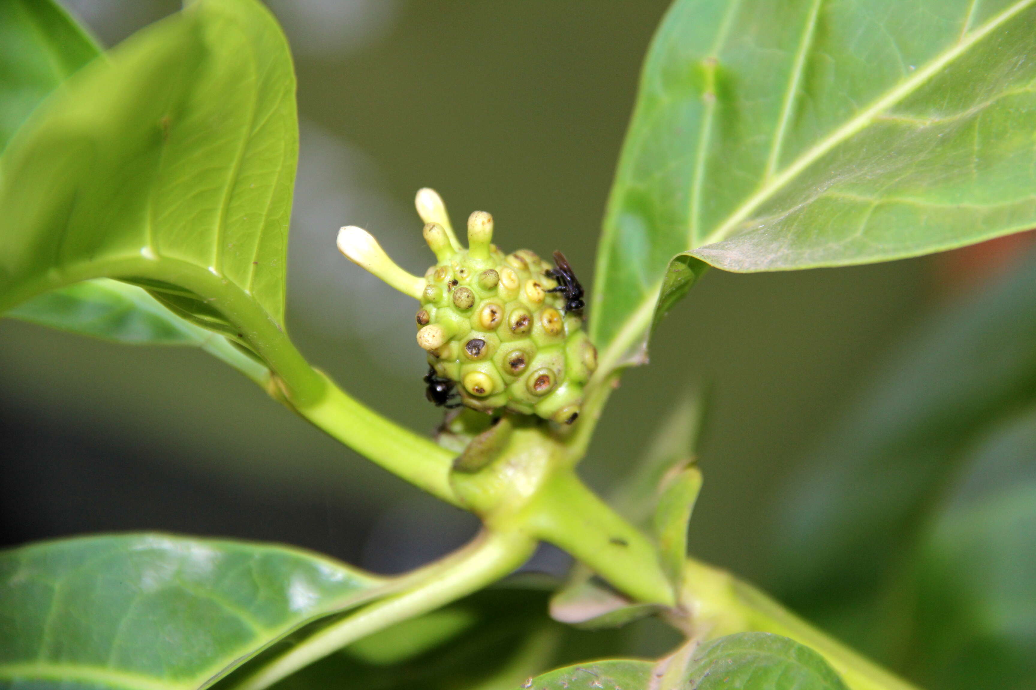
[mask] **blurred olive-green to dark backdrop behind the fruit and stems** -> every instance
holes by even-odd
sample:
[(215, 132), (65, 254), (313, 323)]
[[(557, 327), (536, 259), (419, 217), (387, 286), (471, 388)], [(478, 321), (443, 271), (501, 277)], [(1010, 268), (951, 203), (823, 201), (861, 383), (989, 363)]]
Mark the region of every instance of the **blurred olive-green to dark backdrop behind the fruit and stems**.
[[(67, 0), (112, 46), (165, 0)], [(340, 226), (402, 265), (432, 260), (412, 210), (432, 186), (505, 248), (563, 249), (587, 286), (641, 56), (667, 2), (280, 0), (301, 158), (289, 325), (372, 407), (421, 430), (414, 305), (345, 261)], [(713, 271), (613, 396), (583, 474), (606, 488), (686, 388), (712, 408), (694, 552), (766, 586), (778, 489), (904, 329), (945, 300), (930, 260), (801, 273)], [(941, 277), (943, 276), (943, 277)], [(200, 352), (133, 349), (0, 322), (7, 544), (161, 529), (303, 544), (399, 571), (472, 518), (323, 437)], [(556, 553), (542, 557), (557, 567)]]

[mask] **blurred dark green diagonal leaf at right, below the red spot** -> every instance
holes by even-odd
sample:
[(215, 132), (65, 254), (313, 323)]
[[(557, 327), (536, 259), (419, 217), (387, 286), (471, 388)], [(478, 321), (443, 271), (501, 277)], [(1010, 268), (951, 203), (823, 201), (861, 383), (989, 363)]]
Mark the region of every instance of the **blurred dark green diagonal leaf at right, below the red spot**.
[(1030, 257), (998, 284), (920, 324), (790, 483), (774, 530), (779, 593), (824, 614), (826, 625), (858, 604), (876, 612), (872, 597), (972, 444), (1034, 400)]

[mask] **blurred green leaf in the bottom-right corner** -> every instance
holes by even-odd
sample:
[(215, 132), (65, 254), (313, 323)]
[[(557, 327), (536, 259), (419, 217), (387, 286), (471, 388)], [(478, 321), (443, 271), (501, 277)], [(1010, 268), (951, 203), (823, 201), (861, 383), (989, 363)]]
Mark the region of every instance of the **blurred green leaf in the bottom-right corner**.
[(1036, 687), (1036, 408), (970, 454), (920, 549), (906, 668), (946, 690)]

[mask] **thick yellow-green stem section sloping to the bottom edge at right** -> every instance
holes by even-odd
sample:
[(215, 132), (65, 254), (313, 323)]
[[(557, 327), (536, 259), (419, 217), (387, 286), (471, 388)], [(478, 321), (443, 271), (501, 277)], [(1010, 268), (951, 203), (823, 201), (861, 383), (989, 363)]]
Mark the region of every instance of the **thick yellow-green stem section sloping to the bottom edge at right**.
[[(852, 690), (917, 690), (857, 654), (729, 573), (688, 560), (681, 604), (695, 611), (690, 623), (710, 637), (735, 632), (772, 632), (809, 647), (827, 659)], [(674, 622), (686, 627), (687, 621)]]

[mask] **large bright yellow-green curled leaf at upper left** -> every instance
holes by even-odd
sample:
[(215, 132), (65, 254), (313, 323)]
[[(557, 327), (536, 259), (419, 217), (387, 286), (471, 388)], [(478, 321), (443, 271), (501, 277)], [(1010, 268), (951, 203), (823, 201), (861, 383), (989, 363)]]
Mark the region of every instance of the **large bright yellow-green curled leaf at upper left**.
[(0, 159), (0, 308), (114, 277), (276, 358), (297, 154), (287, 43), (199, 0), (62, 84)]

